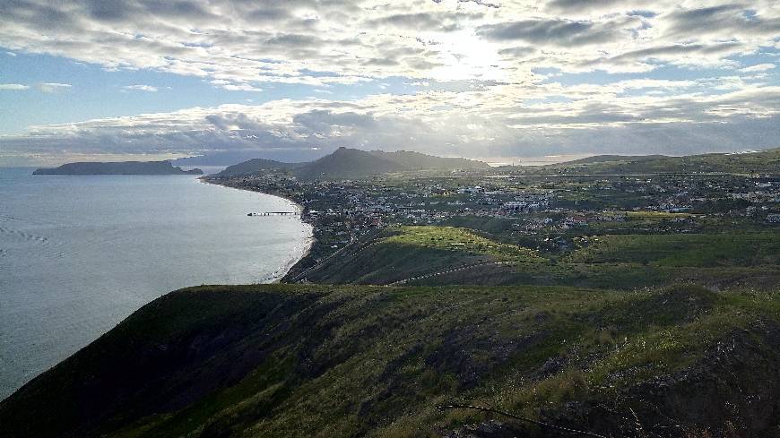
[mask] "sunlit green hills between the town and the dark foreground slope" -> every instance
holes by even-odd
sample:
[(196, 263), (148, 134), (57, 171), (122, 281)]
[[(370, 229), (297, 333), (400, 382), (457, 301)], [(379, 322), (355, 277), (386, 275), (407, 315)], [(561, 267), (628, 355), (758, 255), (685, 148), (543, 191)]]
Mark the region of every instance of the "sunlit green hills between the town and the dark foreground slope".
[[(634, 216), (637, 227), (654, 223), (646, 216)], [(483, 228), (493, 230), (498, 225), (493, 222)], [(630, 223), (627, 228), (631, 229)], [(541, 253), (488, 238), (491, 233), (487, 231), (482, 234), (453, 227), (390, 228), (348, 247), (301, 278), (334, 284), (391, 284), (408, 279), (408, 284), (430, 286), (539, 284), (623, 289), (681, 279), (717, 287), (737, 282), (772, 287), (780, 279), (780, 234), (769, 231), (575, 237), (576, 247), (563, 254)]]

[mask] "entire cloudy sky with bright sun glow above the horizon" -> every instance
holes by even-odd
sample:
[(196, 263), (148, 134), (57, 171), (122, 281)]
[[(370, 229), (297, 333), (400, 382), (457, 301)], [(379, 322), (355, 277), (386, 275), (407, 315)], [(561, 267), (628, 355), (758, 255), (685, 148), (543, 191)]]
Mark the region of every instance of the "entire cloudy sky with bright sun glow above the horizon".
[(0, 0), (0, 166), (780, 146), (776, 0)]

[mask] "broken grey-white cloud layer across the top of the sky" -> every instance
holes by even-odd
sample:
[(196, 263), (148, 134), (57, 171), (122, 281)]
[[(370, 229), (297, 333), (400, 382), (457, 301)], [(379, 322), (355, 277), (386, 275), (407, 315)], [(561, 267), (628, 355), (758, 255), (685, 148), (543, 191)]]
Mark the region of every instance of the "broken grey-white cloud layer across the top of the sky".
[[(543, 66), (632, 72), (650, 56), (716, 64), (775, 45), (776, 3), (713, 3), (28, 0), (0, 3), (0, 46), (262, 88), (394, 76), (482, 79), (496, 69), (504, 80), (524, 80)], [(525, 47), (547, 49), (529, 56)], [(460, 68), (469, 58), (482, 62)]]

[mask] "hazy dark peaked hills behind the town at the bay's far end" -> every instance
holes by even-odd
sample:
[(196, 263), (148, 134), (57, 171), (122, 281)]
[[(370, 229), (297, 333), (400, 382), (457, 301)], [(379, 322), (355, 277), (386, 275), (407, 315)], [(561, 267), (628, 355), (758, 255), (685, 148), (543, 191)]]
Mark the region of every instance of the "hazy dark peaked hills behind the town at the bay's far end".
[(420, 152), (398, 150), (357, 150), (339, 148), (330, 155), (308, 163), (283, 163), (270, 159), (250, 159), (230, 166), (218, 176), (253, 175), (264, 171), (284, 171), (302, 179), (349, 179), (413, 170), (484, 169), (487, 163), (472, 159), (444, 158)]

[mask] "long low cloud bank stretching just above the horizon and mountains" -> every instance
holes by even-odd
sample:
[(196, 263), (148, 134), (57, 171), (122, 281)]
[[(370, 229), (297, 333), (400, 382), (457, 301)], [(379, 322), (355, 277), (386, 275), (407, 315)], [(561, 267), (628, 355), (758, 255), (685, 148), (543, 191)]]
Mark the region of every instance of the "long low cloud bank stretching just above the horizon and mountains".
[[(563, 86), (496, 85), (359, 100), (273, 100), (171, 113), (43, 125), (0, 137), (0, 149), (53, 159), (67, 154), (193, 155), (225, 150), (412, 149), (466, 157), (549, 153), (695, 153), (776, 146), (780, 87), (630, 80)], [(540, 90), (542, 88), (542, 90)], [(657, 90), (635, 94), (632, 90)], [(674, 91), (674, 92), (672, 92)], [(521, 97), (518, 99), (518, 96)], [(479, 100), (481, 104), (474, 106)], [(526, 102), (527, 100), (527, 102)], [(11, 153), (11, 152), (6, 152)]]

